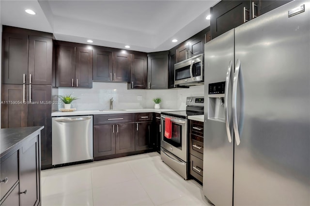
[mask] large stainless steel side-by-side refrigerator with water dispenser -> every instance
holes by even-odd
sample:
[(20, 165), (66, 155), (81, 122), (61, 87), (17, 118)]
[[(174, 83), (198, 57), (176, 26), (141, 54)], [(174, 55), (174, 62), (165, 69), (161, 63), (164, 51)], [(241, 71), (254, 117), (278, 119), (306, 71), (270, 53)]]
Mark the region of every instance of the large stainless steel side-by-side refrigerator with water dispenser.
[(310, 205), (310, 1), (204, 46), (203, 193), (214, 205)]

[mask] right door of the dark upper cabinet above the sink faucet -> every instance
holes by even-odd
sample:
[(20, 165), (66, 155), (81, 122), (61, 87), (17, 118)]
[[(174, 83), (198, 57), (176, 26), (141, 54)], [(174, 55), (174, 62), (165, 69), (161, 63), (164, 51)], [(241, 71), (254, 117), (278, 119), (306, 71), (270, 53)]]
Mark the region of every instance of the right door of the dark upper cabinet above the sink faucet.
[(130, 54), (113, 53), (113, 81), (130, 83)]

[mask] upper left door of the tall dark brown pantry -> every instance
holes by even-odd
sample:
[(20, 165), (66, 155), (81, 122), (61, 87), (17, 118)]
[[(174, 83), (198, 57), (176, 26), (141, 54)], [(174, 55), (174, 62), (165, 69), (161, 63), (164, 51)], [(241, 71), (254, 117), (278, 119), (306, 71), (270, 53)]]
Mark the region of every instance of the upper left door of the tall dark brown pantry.
[(24, 74), (28, 75), (28, 35), (3, 33), (2, 84), (23, 84)]

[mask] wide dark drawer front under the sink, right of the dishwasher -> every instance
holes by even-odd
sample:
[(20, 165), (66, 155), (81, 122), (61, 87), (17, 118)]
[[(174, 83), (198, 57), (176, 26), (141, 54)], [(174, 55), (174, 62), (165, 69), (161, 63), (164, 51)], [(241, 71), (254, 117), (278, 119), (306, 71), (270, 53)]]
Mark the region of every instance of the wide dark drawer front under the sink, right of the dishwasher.
[(94, 115), (93, 124), (114, 124), (135, 122), (135, 114)]

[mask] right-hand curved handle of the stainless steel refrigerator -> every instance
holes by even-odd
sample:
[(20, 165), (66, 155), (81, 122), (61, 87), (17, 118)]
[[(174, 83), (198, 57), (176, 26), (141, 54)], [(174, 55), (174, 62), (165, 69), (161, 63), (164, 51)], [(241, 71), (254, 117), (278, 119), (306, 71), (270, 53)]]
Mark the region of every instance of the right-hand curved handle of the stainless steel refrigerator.
[(238, 127), (238, 119), (237, 119), (237, 86), (238, 86), (240, 67), (241, 67), (240, 60), (237, 59), (236, 66), (235, 66), (235, 72), (233, 76), (233, 102), (232, 102), (233, 130), (234, 130), (234, 136), (235, 136), (237, 145), (240, 144), (240, 135), (239, 135), (239, 127)]

